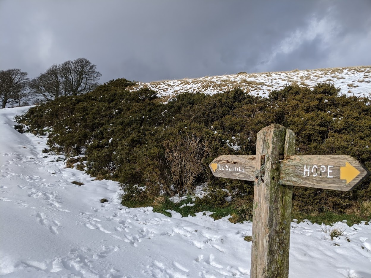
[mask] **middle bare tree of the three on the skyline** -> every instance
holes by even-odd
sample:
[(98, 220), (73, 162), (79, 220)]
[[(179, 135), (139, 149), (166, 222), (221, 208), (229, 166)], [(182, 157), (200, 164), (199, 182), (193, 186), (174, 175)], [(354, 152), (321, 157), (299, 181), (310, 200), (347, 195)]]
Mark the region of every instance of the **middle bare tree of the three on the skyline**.
[(57, 64), (53, 64), (46, 72), (33, 78), (29, 86), (34, 99), (37, 101), (50, 101), (65, 95)]

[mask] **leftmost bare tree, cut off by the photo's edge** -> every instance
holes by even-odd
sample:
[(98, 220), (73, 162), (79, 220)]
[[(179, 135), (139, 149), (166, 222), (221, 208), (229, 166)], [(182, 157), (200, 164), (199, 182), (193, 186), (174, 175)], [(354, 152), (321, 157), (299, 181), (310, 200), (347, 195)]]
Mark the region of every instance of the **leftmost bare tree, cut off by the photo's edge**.
[(1, 108), (7, 104), (21, 104), (24, 97), (29, 95), (27, 72), (20, 69), (0, 70), (0, 101)]

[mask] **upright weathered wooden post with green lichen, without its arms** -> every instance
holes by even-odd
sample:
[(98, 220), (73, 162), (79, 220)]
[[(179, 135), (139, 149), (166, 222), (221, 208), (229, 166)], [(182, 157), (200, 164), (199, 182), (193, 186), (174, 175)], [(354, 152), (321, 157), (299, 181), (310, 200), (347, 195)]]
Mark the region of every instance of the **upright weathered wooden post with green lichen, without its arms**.
[(288, 277), (292, 187), (279, 180), (280, 160), (294, 149), (295, 134), (283, 126), (273, 124), (257, 134), (252, 278)]

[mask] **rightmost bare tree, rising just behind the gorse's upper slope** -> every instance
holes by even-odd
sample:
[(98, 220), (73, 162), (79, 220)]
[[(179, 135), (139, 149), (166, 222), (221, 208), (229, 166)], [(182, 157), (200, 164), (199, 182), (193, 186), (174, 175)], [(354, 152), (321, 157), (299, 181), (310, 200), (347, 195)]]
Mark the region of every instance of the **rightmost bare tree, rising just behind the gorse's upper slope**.
[(59, 73), (63, 90), (67, 95), (81, 95), (94, 90), (99, 85), (99, 77), (102, 76), (96, 70), (96, 65), (85, 58), (68, 60), (60, 64)]

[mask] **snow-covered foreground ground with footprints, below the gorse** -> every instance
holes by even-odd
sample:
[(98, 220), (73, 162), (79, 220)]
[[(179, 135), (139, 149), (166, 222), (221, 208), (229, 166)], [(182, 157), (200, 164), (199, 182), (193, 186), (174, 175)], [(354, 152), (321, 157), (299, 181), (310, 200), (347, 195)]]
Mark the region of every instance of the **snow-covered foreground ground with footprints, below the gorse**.
[[(26, 109), (0, 109), (0, 276), (250, 277), (251, 223), (122, 206), (116, 182), (65, 169), (45, 138), (13, 129)], [(290, 277), (371, 278), (371, 225), (335, 227), (350, 242), (292, 222)]]

